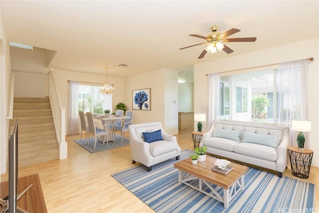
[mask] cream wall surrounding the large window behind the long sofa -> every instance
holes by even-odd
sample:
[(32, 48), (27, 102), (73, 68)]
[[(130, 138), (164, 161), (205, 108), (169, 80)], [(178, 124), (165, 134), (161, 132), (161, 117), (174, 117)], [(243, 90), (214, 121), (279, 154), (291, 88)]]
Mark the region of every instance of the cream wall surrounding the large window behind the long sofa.
[[(308, 119), (312, 120), (312, 132), (309, 133), (305, 146), (314, 151), (312, 165), (319, 167), (319, 37), (225, 59), (218, 59), (218, 54), (224, 53), (216, 53), (217, 59), (215, 62), (211, 61), (194, 66), (194, 94), (202, 94), (202, 96), (194, 96), (194, 112), (205, 112), (207, 114), (207, 99), (201, 98), (207, 97), (207, 76), (205, 75), (207, 73), (314, 57), (314, 61), (307, 60)], [(203, 131), (207, 131), (206, 122), (203, 122)], [(295, 138), (293, 141), (297, 146)]]

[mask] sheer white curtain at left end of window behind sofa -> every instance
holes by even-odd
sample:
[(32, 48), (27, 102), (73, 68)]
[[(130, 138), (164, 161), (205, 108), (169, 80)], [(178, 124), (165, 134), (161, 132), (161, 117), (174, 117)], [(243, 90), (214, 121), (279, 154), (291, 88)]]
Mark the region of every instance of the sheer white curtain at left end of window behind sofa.
[(208, 77), (208, 116), (207, 131), (213, 125), (213, 121), (219, 118), (219, 90), (220, 90), (220, 73), (207, 74)]

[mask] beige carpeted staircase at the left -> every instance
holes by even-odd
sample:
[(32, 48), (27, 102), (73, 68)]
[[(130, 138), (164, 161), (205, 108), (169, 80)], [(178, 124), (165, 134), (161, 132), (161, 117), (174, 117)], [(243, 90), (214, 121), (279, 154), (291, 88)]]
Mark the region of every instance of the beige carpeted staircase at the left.
[(14, 97), (13, 118), (19, 119), (19, 167), (59, 159), (58, 141), (48, 97)]

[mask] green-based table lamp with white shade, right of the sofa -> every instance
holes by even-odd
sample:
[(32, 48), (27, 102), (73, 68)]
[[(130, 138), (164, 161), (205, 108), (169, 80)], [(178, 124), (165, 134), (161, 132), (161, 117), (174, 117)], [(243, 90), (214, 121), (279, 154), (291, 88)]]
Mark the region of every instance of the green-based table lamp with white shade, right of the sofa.
[(303, 132), (311, 132), (311, 120), (293, 119), (292, 129), (299, 132), (297, 143), (300, 150), (305, 150), (305, 136)]

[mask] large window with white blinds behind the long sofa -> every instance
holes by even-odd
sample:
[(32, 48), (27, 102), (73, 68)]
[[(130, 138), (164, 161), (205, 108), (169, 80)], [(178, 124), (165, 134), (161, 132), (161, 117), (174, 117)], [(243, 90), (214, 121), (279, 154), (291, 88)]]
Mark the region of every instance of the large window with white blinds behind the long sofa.
[(289, 91), (277, 89), (277, 78), (283, 77), (277, 72), (278, 69), (272, 67), (221, 76), (219, 120), (263, 123), (278, 123), (280, 120), (289, 124), (291, 119), (298, 118), (300, 107), (292, 111), (290, 102), (297, 106), (301, 104), (302, 72), (284, 76), (289, 78), (285, 82), (293, 82), (294, 89)]

